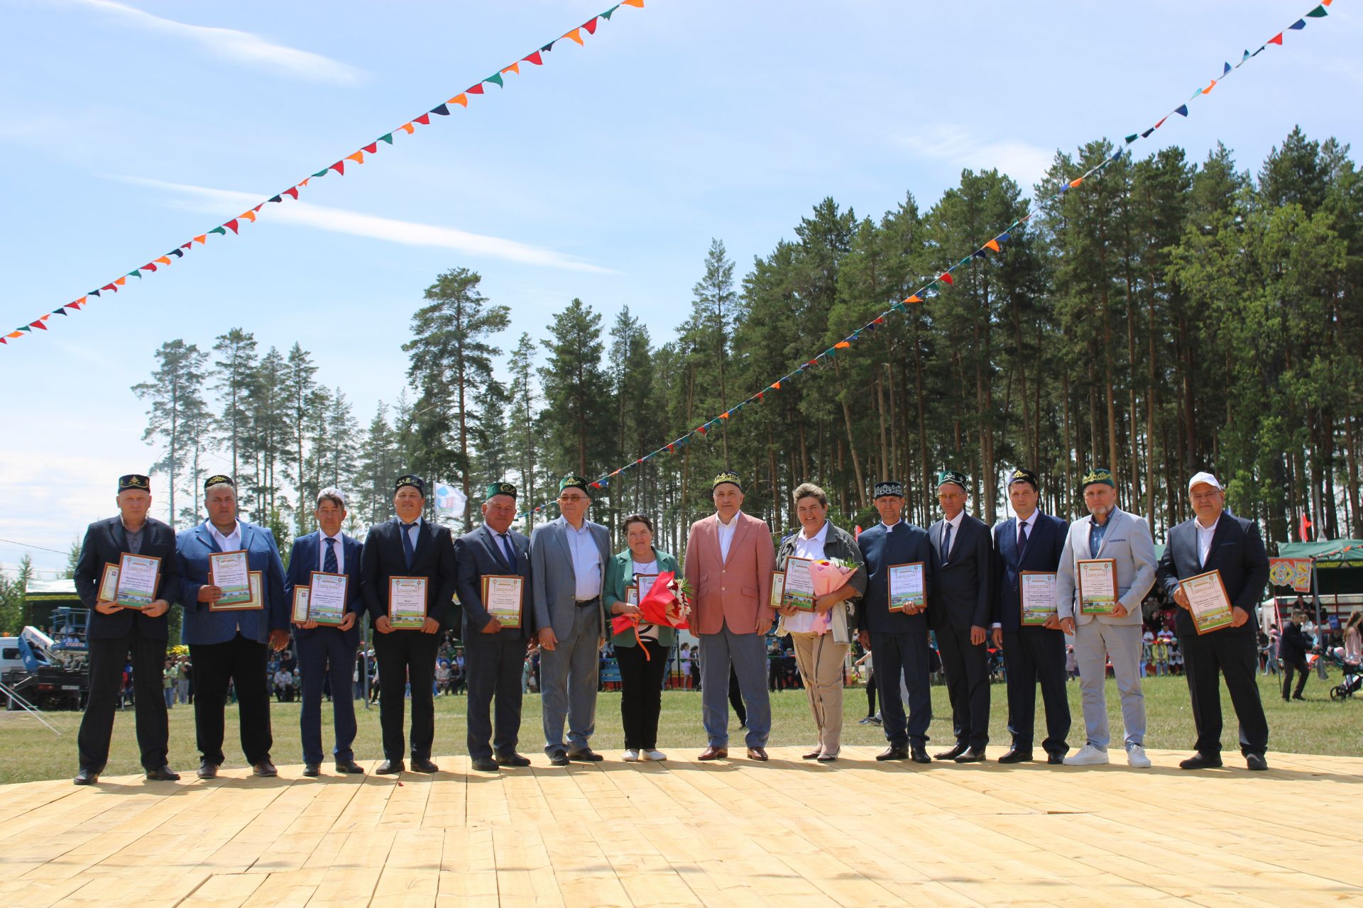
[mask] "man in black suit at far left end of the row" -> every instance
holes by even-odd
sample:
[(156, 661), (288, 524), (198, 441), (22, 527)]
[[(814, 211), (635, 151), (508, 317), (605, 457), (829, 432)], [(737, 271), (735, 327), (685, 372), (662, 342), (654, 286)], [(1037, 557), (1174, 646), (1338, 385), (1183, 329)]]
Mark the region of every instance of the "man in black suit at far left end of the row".
[[(174, 557), (174, 530), (147, 516), (151, 481), (139, 474), (119, 476), (119, 516), (97, 520), (86, 530), (76, 562), (75, 581), (80, 602), (90, 610), (86, 640), (90, 647), (90, 697), (76, 750), (80, 757), (78, 785), (99, 780), (109, 760), (113, 709), (123, 689), (123, 667), (132, 653), (132, 685), (136, 692), (138, 747), (147, 779), (174, 781), (180, 776), (166, 765), (169, 727), (161, 696), (161, 671), (166, 662), (166, 610), (180, 588)], [(161, 560), (155, 599), (150, 606), (124, 609), (99, 599), (105, 565), (119, 565), (123, 553)]]

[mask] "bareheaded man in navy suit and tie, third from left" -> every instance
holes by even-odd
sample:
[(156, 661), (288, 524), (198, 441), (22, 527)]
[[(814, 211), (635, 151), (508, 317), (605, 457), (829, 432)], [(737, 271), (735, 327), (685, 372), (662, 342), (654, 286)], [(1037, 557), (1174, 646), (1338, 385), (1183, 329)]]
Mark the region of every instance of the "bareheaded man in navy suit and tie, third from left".
[(293, 603), (293, 588), (312, 583), (312, 572), (346, 576), (346, 611), (339, 625), (319, 625), (315, 619), (294, 625), (298, 648), (298, 674), (303, 675), (303, 775), (322, 772), (322, 682), (331, 679), (331, 716), (337, 738), (331, 754), (337, 772), (363, 773), (354, 761), (354, 698), (350, 677), (354, 674), (354, 651), (360, 643), (356, 623), (364, 611), (360, 594), (360, 542), (341, 532), (345, 523), (345, 494), (327, 487), (318, 493), (318, 530), (293, 540), (289, 573), (284, 579), (285, 602)]

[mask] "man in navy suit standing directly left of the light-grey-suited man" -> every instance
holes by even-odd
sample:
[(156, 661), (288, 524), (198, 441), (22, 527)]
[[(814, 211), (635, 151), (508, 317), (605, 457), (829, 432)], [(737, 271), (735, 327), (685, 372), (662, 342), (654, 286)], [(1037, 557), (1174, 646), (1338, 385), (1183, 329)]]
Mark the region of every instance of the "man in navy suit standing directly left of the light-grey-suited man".
[(1009, 476), (1009, 501), (1015, 517), (994, 527), (994, 643), (1003, 647), (1003, 668), (1009, 685), (1009, 732), (1013, 747), (999, 762), (1032, 760), (1032, 732), (1036, 727), (1036, 686), (1041, 685), (1045, 705), (1045, 750), (1048, 764), (1063, 764), (1070, 745), (1070, 701), (1065, 690), (1065, 632), (1060, 617), (1052, 614), (1041, 626), (1022, 625), (1020, 574), (1024, 570), (1055, 573), (1065, 551), (1070, 525), (1037, 508), (1040, 482), (1030, 470), (1014, 470)]

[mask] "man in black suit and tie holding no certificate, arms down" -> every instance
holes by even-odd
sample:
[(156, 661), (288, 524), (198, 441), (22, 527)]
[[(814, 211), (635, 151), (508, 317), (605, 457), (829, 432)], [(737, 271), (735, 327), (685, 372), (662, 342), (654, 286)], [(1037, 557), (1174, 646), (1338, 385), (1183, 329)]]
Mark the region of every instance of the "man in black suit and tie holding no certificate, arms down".
[(965, 474), (938, 474), (942, 520), (932, 524), (932, 594), (928, 623), (936, 632), (942, 670), (951, 698), (955, 746), (938, 760), (979, 762), (990, 742), (990, 653), (985, 625), (990, 621), (990, 528), (965, 513)]

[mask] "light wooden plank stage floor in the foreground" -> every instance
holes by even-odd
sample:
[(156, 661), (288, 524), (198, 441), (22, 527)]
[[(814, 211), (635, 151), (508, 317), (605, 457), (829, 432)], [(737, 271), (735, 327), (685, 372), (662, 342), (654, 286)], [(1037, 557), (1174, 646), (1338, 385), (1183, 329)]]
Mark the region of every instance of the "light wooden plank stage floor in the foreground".
[(0, 905), (1363, 907), (1359, 758), (1189, 773), (1171, 751), (1139, 772), (696, 753), (3, 785)]

